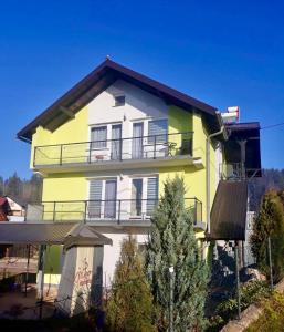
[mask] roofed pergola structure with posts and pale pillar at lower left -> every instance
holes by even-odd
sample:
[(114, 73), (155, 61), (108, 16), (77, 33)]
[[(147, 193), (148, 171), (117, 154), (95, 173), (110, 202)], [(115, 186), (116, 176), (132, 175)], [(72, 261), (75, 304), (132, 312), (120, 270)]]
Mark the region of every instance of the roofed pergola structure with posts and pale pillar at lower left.
[[(56, 301), (60, 304), (56, 308), (64, 314), (72, 315), (87, 310), (94, 303), (99, 303), (101, 299), (97, 297), (102, 294), (103, 287), (101, 276), (103, 250), (105, 245), (112, 245), (112, 240), (97, 232), (94, 226), (67, 221), (1, 222), (0, 245), (15, 243), (38, 245), (41, 248), (38, 271), (38, 298), (41, 303), (43, 302), (45, 251), (46, 246), (52, 245), (62, 245), (64, 249)], [(27, 273), (28, 271), (29, 258)], [(92, 294), (95, 294), (96, 299), (92, 299)]]

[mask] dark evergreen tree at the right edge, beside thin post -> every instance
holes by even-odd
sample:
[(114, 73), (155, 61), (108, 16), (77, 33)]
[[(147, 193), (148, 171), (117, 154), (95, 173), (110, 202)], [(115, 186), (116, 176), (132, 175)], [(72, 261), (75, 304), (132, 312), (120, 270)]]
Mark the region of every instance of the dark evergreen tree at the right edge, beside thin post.
[(270, 277), (267, 239), (271, 237), (273, 279), (278, 281), (284, 273), (284, 208), (283, 194), (269, 190), (262, 198), (251, 237), (252, 252), (262, 272)]

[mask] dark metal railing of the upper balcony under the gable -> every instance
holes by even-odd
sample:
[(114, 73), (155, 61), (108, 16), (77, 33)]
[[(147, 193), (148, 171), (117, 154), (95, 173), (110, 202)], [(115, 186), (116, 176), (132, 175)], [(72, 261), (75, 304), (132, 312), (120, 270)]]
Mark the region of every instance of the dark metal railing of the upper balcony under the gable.
[(192, 156), (192, 132), (34, 147), (33, 166)]

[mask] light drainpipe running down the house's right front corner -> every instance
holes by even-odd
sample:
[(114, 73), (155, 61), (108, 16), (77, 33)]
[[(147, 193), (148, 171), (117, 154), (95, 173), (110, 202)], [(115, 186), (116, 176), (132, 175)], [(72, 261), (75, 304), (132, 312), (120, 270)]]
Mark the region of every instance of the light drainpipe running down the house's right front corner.
[(223, 125), (223, 121), (221, 117), (221, 113), (217, 112), (218, 122), (220, 124), (220, 131), (212, 133), (207, 136), (207, 146), (206, 146), (206, 185), (207, 185), (207, 232), (210, 234), (211, 225), (210, 225), (210, 143), (211, 138), (223, 134), (227, 139), (225, 127)]

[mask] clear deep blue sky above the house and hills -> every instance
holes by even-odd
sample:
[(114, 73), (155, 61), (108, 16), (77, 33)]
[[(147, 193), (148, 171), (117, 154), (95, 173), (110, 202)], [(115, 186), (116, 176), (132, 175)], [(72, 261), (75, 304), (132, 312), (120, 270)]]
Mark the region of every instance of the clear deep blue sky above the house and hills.
[[(114, 61), (241, 121), (284, 122), (282, 1), (1, 1), (0, 175), (30, 177), (17, 132)], [(262, 131), (264, 167), (284, 167), (284, 126)]]

